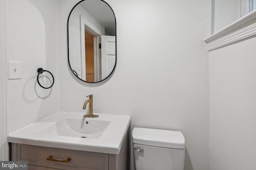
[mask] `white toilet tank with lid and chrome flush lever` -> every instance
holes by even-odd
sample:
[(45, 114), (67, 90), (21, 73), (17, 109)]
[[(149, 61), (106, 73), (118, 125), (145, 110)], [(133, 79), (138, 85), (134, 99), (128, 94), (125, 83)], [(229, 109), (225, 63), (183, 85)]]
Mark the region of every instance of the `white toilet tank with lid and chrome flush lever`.
[(136, 170), (184, 170), (181, 132), (135, 127), (132, 142)]

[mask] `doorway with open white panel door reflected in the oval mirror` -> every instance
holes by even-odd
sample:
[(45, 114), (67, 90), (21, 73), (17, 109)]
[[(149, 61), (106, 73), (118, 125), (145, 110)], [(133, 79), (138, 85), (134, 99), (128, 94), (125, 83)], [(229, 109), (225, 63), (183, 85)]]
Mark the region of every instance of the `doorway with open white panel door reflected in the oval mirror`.
[[(97, 82), (106, 78), (116, 63), (116, 37), (98, 35), (94, 30), (84, 25), (81, 34), (82, 47), (81, 70), (86, 82)], [(84, 43), (83, 43), (84, 42)]]

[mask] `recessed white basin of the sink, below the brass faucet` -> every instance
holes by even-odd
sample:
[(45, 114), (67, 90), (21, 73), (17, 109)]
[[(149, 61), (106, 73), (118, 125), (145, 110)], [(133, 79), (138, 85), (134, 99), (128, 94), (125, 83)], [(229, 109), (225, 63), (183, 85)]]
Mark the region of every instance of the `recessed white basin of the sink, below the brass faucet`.
[(109, 124), (110, 121), (97, 119), (62, 119), (41, 131), (40, 134), (96, 139), (102, 135)]

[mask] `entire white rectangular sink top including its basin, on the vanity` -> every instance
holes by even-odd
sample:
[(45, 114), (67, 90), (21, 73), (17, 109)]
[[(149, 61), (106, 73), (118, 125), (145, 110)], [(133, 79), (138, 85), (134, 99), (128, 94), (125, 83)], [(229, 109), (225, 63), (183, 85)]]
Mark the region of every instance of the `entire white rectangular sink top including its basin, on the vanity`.
[(8, 142), (119, 154), (130, 125), (129, 115), (58, 112), (8, 136)]

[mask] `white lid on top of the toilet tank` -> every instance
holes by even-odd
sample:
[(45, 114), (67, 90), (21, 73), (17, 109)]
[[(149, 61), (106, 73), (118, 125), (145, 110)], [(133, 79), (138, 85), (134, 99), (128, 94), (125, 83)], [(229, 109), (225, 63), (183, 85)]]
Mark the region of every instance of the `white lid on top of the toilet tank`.
[(134, 127), (132, 130), (132, 142), (154, 147), (185, 148), (185, 138), (180, 131)]

